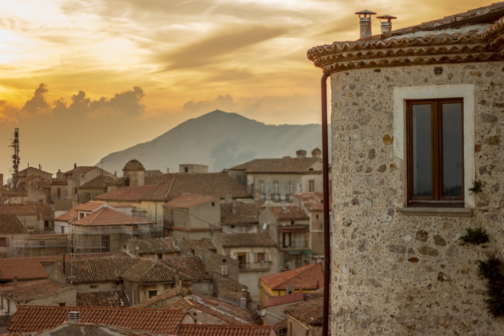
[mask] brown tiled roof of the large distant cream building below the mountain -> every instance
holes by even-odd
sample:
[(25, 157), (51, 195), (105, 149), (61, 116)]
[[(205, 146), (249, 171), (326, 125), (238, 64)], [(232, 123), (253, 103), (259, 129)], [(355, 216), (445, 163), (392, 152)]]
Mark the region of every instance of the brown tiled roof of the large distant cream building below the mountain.
[[(314, 164), (320, 162), (320, 168), (310, 171)], [(305, 173), (321, 172), (321, 158), (290, 158), (282, 159), (256, 159), (234, 166), (230, 170), (244, 170), (247, 173)]]

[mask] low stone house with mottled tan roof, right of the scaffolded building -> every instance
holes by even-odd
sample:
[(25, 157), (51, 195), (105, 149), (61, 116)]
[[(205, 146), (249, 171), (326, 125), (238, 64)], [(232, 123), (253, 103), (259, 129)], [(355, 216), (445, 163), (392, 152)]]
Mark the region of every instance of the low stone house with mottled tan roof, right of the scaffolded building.
[(165, 259), (180, 255), (180, 248), (171, 237), (130, 239), (125, 244), (124, 252), (133, 257)]

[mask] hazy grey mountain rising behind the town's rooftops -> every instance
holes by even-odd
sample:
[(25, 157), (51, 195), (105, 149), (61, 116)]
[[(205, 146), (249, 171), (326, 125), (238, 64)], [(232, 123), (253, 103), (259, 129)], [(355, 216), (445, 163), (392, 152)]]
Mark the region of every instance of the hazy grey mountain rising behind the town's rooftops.
[(219, 110), (189, 119), (156, 139), (105, 156), (96, 166), (122, 176), (131, 159), (147, 170), (178, 172), (179, 164), (207, 165), (219, 172), (254, 159), (310, 156), (322, 149), (321, 125), (266, 125), (236, 113)]

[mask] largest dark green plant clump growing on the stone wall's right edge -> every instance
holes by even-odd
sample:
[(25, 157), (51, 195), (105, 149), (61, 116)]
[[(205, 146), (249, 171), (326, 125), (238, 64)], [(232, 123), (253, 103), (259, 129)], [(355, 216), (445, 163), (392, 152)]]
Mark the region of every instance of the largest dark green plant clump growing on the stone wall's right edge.
[(493, 316), (504, 316), (504, 263), (495, 256), (478, 260), (478, 274), (487, 280), (486, 308)]

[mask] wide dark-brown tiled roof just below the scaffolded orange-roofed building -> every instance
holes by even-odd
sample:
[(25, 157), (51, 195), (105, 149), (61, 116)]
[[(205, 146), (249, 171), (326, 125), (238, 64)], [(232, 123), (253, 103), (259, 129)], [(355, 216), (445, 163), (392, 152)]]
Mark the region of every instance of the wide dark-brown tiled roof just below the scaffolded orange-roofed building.
[[(66, 259), (65, 274), (67, 282), (72, 283), (97, 283), (115, 282), (120, 275), (128, 270), (140, 258), (131, 257), (102, 257), (87, 259)], [(58, 267), (63, 274), (63, 261), (58, 260)]]

